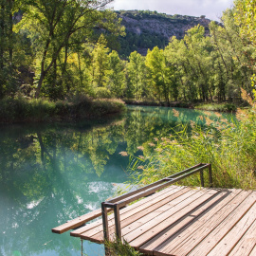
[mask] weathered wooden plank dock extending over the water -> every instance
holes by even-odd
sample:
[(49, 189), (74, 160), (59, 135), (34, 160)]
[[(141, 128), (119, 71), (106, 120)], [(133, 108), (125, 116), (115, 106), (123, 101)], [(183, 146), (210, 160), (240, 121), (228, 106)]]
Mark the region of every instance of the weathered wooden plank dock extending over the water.
[[(151, 188), (146, 191), (151, 192)], [(134, 194), (125, 200), (119, 197), (119, 206), (137, 198)], [(111, 203), (106, 206), (111, 207)], [(70, 234), (102, 244), (106, 235), (114, 240), (118, 233), (146, 255), (256, 255), (256, 192), (173, 185), (118, 209), (118, 216), (115, 213)], [(62, 233), (97, 216), (101, 210), (52, 231)], [(103, 225), (102, 220), (106, 222)]]

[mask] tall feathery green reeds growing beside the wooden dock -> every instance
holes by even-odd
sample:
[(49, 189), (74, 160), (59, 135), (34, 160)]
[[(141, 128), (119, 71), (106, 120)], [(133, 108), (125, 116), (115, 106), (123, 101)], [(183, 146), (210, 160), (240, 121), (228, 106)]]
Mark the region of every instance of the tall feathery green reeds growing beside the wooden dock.
[[(246, 97), (246, 96), (245, 96)], [(218, 188), (256, 189), (256, 106), (238, 109), (236, 120), (207, 112), (207, 127), (191, 122), (170, 137), (155, 138), (148, 144), (133, 170), (140, 183), (148, 184), (197, 163), (211, 163), (213, 185)], [(174, 113), (178, 116), (177, 111)], [(214, 119), (213, 119), (214, 117)], [(200, 186), (199, 176), (187, 178), (185, 185)]]

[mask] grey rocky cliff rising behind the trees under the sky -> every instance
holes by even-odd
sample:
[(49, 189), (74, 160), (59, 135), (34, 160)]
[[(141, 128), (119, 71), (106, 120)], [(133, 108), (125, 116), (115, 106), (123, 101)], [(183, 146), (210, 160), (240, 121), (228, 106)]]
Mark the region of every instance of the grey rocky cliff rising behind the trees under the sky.
[(167, 46), (170, 38), (181, 39), (188, 29), (198, 24), (205, 27), (206, 34), (209, 33), (210, 20), (204, 15), (167, 15), (149, 10), (120, 10), (117, 13), (126, 27), (126, 36), (119, 39), (122, 56), (128, 56), (134, 50), (145, 55), (148, 48)]

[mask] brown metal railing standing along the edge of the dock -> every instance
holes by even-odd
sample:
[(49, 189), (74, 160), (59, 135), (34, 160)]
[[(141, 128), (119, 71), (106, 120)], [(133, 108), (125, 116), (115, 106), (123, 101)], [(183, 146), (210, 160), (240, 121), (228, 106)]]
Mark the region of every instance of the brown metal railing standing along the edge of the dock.
[(105, 241), (109, 241), (109, 229), (108, 229), (108, 218), (107, 218), (107, 208), (114, 210), (115, 216), (115, 226), (116, 226), (116, 236), (121, 241), (121, 229), (120, 229), (120, 214), (119, 210), (129, 203), (141, 198), (153, 194), (161, 189), (164, 189), (177, 181), (188, 177), (192, 174), (200, 172), (201, 186), (204, 187), (204, 170), (208, 168), (209, 171), (209, 186), (212, 187), (212, 174), (211, 174), (211, 164), (197, 164), (189, 169), (186, 169), (177, 174), (170, 175), (163, 179), (160, 179), (148, 186), (145, 186), (141, 189), (138, 189), (134, 192), (128, 192), (118, 197), (115, 197), (109, 201), (101, 203), (101, 213), (102, 213), (102, 224), (103, 224), (103, 233)]

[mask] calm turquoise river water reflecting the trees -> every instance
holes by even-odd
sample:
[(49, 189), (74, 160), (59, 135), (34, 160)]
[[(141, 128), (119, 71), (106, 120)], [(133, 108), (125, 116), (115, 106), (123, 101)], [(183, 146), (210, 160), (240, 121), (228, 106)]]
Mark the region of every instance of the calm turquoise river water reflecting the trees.
[[(100, 208), (129, 181), (120, 152), (141, 155), (138, 146), (177, 125), (203, 124), (201, 111), (176, 111), (129, 106), (115, 120), (0, 126), (0, 255), (81, 255), (80, 239), (51, 229)], [(83, 253), (103, 247), (84, 241)]]

